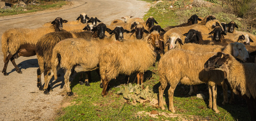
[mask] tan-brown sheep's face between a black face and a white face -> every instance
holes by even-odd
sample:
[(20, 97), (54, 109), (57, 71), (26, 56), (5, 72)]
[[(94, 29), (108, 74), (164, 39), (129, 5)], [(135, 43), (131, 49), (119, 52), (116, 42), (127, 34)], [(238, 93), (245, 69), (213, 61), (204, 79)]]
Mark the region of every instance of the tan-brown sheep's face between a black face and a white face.
[(154, 47), (159, 47), (160, 42), (164, 42), (164, 39), (159, 35), (157, 31), (153, 31), (150, 33), (147, 41), (151, 40)]

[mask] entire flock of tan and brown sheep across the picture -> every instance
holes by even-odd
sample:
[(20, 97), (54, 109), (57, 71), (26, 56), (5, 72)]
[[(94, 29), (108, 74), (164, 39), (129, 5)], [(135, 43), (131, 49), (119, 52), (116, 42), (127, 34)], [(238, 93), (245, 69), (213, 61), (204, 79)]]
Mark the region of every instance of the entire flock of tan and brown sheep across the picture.
[(56, 80), (57, 71), (63, 68), (67, 95), (73, 94), (69, 87), (73, 71), (86, 73), (85, 81), (80, 83), (90, 86), (90, 71), (96, 70), (101, 77), (101, 95), (105, 97), (109, 81), (120, 73), (136, 72), (137, 82), (143, 83), (144, 72), (160, 55), (159, 107), (164, 109), (163, 93), (167, 84), (170, 84), (169, 111), (174, 113), (173, 94), (179, 82), (191, 85), (189, 94), (194, 91), (193, 85), (207, 83), (209, 107), (219, 113), (216, 86), (222, 86), (222, 104), (226, 104), (234, 98), (232, 94), (228, 101), (229, 84), (232, 93), (246, 98), (251, 118), (256, 120), (256, 47), (252, 43), (256, 41), (255, 35), (235, 30), (238, 26), (234, 21), (220, 23), (214, 15), (205, 18), (192, 15), (187, 23), (165, 28), (154, 25), (157, 21), (153, 17), (147, 21), (130, 16), (122, 19), (124, 21), (115, 19), (105, 25), (97, 17), (89, 18), (82, 13), (77, 21), (57, 17), (37, 29), (8, 29), (2, 35), (2, 73), (8, 75), (9, 60), (16, 71), (22, 73), (15, 58), (36, 55), (37, 87), (44, 94), (49, 94), (50, 79), (54, 76)]

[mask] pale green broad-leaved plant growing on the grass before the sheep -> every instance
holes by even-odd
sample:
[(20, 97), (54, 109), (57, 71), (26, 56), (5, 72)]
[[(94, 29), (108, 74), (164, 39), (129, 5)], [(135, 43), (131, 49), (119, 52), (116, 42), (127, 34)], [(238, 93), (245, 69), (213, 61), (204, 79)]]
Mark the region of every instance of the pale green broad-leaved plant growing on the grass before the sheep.
[(132, 86), (132, 83), (129, 83), (128, 86), (120, 87), (120, 90), (116, 94), (123, 94), (125, 99), (129, 100), (136, 100), (137, 102), (141, 102), (141, 100), (146, 99), (157, 99), (157, 94), (153, 93), (152, 90), (149, 90), (149, 86), (145, 88), (145, 90), (142, 89), (143, 84), (136, 86)]

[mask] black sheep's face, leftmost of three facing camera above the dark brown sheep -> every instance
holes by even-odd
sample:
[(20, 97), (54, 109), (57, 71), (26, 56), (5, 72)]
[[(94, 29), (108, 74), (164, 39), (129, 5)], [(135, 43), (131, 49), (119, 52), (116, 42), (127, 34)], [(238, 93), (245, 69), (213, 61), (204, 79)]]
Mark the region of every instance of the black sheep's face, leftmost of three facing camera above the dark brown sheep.
[(96, 32), (98, 37), (100, 39), (103, 39), (105, 37), (105, 31), (110, 33), (112, 30), (107, 28), (104, 23), (100, 23), (99, 25), (97, 25), (97, 27), (93, 28), (91, 31)]

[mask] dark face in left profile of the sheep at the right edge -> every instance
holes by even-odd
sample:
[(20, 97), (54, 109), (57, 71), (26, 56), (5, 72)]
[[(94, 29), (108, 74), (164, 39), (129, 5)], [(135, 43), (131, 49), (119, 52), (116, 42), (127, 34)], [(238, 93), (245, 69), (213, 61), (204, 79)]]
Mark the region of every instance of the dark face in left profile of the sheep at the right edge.
[(229, 54), (225, 54), (222, 52), (217, 52), (216, 54), (214, 54), (212, 57), (210, 57), (206, 63), (204, 63), (204, 69), (206, 71), (209, 70), (221, 70), (221, 71), (225, 71), (225, 69), (227, 69), (227, 64), (228, 64), (228, 59), (230, 58)]

